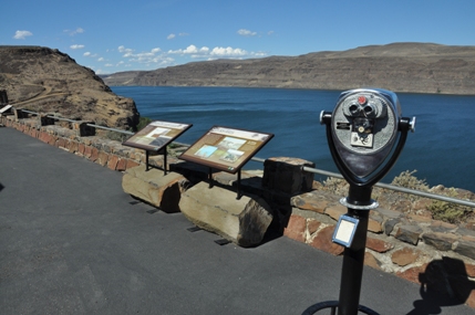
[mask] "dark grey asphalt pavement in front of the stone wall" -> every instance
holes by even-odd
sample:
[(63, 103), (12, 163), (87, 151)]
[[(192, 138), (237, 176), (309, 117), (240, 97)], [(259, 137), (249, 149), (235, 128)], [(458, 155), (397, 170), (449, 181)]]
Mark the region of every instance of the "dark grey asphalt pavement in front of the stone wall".
[[(301, 314), (338, 300), (341, 258), (287, 238), (217, 245), (123, 192), (122, 175), (0, 128), (0, 314)], [(380, 314), (475, 314), (365, 269)], [(323, 313), (319, 313), (323, 314)], [(324, 314), (330, 314), (324, 313)]]

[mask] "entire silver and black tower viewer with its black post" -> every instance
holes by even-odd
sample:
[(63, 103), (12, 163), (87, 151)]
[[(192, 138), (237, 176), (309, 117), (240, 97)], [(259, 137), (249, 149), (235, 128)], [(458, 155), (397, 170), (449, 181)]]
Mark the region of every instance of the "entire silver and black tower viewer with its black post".
[(320, 123), (327, 127), (331, 156), (350, 183), (348, 197), (340, 200), (348, 213), (340, 217), (332, 238), (345, 249), (340, 300), (332, 306), (326, 302), (316, 304), (303, 314), (329, 307), (338, 308), (339, 315), (355, 315), (359, 309), (378, 314), (359, 305), (369, 212), (379, 206), (371, 192), (399, 158), (407, 132), (414, 132), (415, 118), (401, 117), (395, 93), (358, 88), (343, 92), (333, 112), (320, 114)]

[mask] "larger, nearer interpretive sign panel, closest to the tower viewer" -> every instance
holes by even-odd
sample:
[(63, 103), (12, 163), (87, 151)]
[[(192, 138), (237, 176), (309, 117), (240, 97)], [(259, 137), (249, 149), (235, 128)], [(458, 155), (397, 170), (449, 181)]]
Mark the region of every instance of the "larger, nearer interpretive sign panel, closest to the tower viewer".
[(214, 126), (179, 158), (236, 174), (272, 134)]

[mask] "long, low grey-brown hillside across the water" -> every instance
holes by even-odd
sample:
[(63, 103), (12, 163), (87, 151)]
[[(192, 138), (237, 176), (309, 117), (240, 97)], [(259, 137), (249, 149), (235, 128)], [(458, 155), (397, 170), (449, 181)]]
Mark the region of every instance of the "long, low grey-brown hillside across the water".
[(104, 77), (109, 85), (244, 86), (475, 94), (475, 46), (393, 43), (342, 52), (216, 60)]

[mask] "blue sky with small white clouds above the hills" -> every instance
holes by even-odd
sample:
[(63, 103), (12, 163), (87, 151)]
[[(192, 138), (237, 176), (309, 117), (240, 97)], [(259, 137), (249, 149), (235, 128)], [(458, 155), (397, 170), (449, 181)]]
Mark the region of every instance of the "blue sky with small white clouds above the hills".
[(1, 7), (0, 45), (59, 49), (97, 74), (393, 42), (475, 45), (474, 0), (7, 0)]

